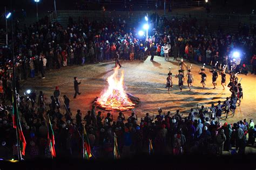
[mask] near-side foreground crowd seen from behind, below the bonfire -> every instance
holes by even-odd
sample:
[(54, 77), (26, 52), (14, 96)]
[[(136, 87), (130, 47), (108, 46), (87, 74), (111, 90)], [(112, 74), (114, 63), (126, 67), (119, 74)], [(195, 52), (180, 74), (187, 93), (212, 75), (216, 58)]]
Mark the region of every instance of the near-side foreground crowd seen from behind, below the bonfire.
[[(210, 119), (210, 112), (191, 109), (188, 116), (158, 110), (156, 116), (138, 118), (132, 112), (130, 117), (125, 117), (119, 112), (117, 119), (113, 119), (110, 112), (98, 111), (93, 105), (85, 116), (77, 110), (69, 108), (69, 98), (64, 96), (65, 111), (60, 111), (58, 102), (59, 90), (51, 96), (52, 102), (46, 107), (43, 93), (34, 103), (33, 96), (30, 100), (22, 97), (19, 103), (19, 115), (23, 133), (26, 139), (24, 159), (50, 158), (48, 143), (48, 126), (46, 118), (51, 119), (55, 134), (55, 150), (58, 157), (82, 158), (82, 130), (83, 125), (87, 131), (92, 159), (113, 158), (114, 134), (122, 158), (131, 157), (133, 154), (149, 153), (149, 141), (152, 141), (155, 154), (211, 154), (221, 155), (223, 151), (228, 154), (245, 154), (246, 146), (254, 146), (256, 126), (253, 120), (238, 121), (233, 124), (223, 125)], [(36, 110), (35, 105), (38, 109)], [(45, 109), (47, 108), (47, 109)], [(46, 111), (47, 110), (47, 111)], [(204, 116), (201, 116), (204, 112)], [(197, 116), (198, 115), (198, 116)], [(0, 154), (3, 159), (17, 158), (16, 131), (12, 128), (12, 113), (10, 106), (2, 106), (0, 110), (1, 145)]]

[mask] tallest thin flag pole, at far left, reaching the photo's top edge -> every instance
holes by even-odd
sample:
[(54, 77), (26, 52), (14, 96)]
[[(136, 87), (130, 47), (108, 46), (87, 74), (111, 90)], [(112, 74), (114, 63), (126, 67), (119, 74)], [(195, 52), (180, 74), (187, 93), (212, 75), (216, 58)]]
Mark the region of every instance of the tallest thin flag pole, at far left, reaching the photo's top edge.
[[(11, 0), (11, 12), (12, 12), (12, 0)], [(16, 115), (16, 137), (17, 137), (17, 145), (18, 145), (18, 160), (22, 160), (22, 155), (21, 155), (21, 145), (19, 144), (19, 134), (18, 134), (18, 123), (19, 123), (19, 119), (18, 119), (18, 112), (17, 112), (17, 96), (16, 96), (16, 83), (15, 83), (15, 69), (14, 69), (14, 31), (13, 31), (13, 26), (12, 26), (12, 16), (11, 15), (11, 50), (12, 50), (12, 55), (11, 55), (11, 59), (12, 59), (12, 93), (14, 94), (14, 115)]]

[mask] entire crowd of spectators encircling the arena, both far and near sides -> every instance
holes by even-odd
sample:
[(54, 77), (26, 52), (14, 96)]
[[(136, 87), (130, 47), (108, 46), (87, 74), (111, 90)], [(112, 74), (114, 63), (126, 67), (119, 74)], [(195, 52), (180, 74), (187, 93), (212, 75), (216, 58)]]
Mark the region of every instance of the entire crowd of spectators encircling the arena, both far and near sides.
[[(145, 37), (142, 40), (137, 35), (136, 27), (128, 26), (122, 18), (103, 22), (89, 22), (85, 18), (74, 22), (69, 18), (68, 28), (64, 29), (59, 23), (49, 23), (45, 17), (30, 26), (24, 25), (22, 29), (16, 27), (14, 63), (10, 46), (0, 47), (0, 95), (3, 103), (0, 110), (0, 131), (3, 134), (0, 137), (1, 156), (10, 158), (17, 155), (11, 106), (8, 105), (12, 101), (13, 81), (19, 93), (20, 81), (33, 79), (39, 74), (47, 79), (46, 70), (104, 60), (144, 60), (147, 55), (151, 55), (153, 61), (154, 55), (159, 55), (166, 60), (173, 56), (174, 59), (184, 58), (208, 65), (216, 61), (223, 65), (235, 62), (236, 67), (245, 69), (251, 62), (256, 73), (255, 39), (246, 31), (228, 34), (219, 30), (211, 33), (207, 27), (198, 26), (196, 18), (166, 20), (161, 17), (157, 24), (152, 16), (150, 18), (151, 36), (146, 41)], [(234, 51), (240, 51), (240, 58), (238, 56), (233, 60)], [(15, 68), (15, 77), (12, 67)], [(246, 144), (253, 145), (255, 140), (253, 120), (221, 125), (210, 119), (207, 113), (195, 119), (191, 114), (183, 117), (178, 110), (176, 114), (164, 114), (159, 110), (156, 117), (146, 114), (141, 120), (134, 113), (126, 119), (120, 112), (117, 120), (113, 120), (110, 113), (102, 115), (99, 111), (96, 115), (94, 107), (82, 117), (80, 110), (72, 114), (68, 96), (64, 95), (63, 102), (60, 102), (58, 87), (50, 97), (49, 105), (42, 91), (38, 98), (36, 96), (35, 91), (27, 96), (18, 95), (21, 124), (29, 144), (25, 158), (49, 158), (45, 116), (52, 121), (57, 154), (65, 153), (73, 157), (81, 155), (82, 122), (85, 123), (95, 158), (112, 157), (113, 132), (117, 135), (122, 157), (147, 151), (149, 139), (152, 140), (154, 153), (173, 154), (222, 154), (223, 150), (230, 151), (232, 146), (243, 154)], [(60, 103), (65, 104), (65, 113), (60, 111)], [(10, 154), (11, 151), (13, 154)], [(237, 152), (234, 150), (232, 153)]]

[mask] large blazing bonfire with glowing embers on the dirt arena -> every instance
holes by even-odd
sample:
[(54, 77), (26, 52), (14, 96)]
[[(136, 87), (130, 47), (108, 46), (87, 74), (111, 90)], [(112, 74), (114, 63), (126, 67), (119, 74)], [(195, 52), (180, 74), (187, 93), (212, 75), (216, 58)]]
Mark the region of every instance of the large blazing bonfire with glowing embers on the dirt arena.
[(139, 98), (125, 93), (124, 90), (124, 72), (118, 78), (118, 68), (114, 69), (114, 73), (107, 78), (109, 87), (104, 93), (97, 97), (94, 104), (100, 109), (126, 111), (136, 107)]

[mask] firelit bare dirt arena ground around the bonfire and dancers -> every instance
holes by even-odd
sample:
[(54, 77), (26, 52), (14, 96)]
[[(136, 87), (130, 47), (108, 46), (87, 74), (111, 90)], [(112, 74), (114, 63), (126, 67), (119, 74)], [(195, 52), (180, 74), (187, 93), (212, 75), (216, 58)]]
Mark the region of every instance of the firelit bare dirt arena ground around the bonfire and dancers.
[[(200, 65), (193, 63), (192, 74), (194, 76), (194, 83), (191, 91), (188, 91), (186, 86), (187, 80), (184, 82), (184, 89), (180, 92), (178, 87), (178, 79), (174, 77), (178, 73), (178, 62), (165, 61), (164, 58), (156, 56), (154, 62), (147, 58), (145, 61), (122, 61), (122, 68), (124, 70), (124, 85), (126, 93), (130, 93), (140, 98), (141, 103), (136, 108), (138, 117), (144, 117), (146, 112), (150, 115), (156, 115), (158, 107), (163, 111), (171, 111), (172, 114), (180, 109), (184, 116), (187, 116), (191, 108), (196, 109), (204, 105), (205, 107), (211, 107), (211, 103), (217, 103), (217, 101), (225, 101), (225, 98), (230, 96), (231, 93), (226, 87), (220, 84), (221, 77), (218, 77), (217, 88), (213, 89), (212, 74), (209, 69), (206, 69), (207, 82), (206, 88), (200, 84), (200, 75), (198, 70)], [(186, 62), (187, 63), (187, 62)], [(187, 63), (190, 66), (191, 63)], [(50, 96), (53, 95), (55, 86), (59, 86), (62, 96), (65, 94), (70, 98), (70, 108), (73, 115), (76, 114), (76, 110), (80, 109), (83, 116), (87, 110), (91, 109), (92, 101), (100, 96), (102, 91), (107, 88), (107, 77), (113, 73), (114, 62), (96, 63), (93, 65), (84, 66), (72, 66), (62, 68), (61, 70), (53, 70), (46, 72), (45, 79), (31, 79), (23, 84), (23, 90), (36, 89), (37, 93), (40, 90), (44, 91), (50, 103)], [(168, 94), (165, 89), (167, 73), (169, 73), (169, 67), (172, 69), (172, 80), (174, 86), (170, 89)], [(119, 75), (121, 72), (119, 72)], [(186, 74), (186, 72), (185, 72)], [(82, 93), (76, 99), (73, 99), (73, 77), (77, 76), (78, 80), (82, 80), (79, 86), (79, 90)], [(251, 118), (256, 118), (256, 76), (252, 74), (239, 75), (239, 80), (242, 77), (242, 87), (244, 91), (244, 99), (240, 107), (237, 107), (235, 116), (230, 116), (226, 121), (228, 123), (234, 123), (246, 118), (247, 121)], [(227, 75), (227, 84), (230, 76)], [(38, 94), (37, 94), (38, 95)], [(62, 101), (61, 101), (62, 102)], [(63, 103), (63, 102), (62, 102)], [(62, 112), (63, 112), (62, 104)], [(107, 111), (103, 111), (105, 117)], [(118, 116), (118, 112), (112, 111), (114, 119)], [(125, 117), (130, 116), (131, 111), (124, 112)], [(224, 120), (222, 120), (224, 121)]]

